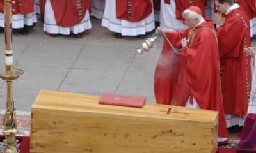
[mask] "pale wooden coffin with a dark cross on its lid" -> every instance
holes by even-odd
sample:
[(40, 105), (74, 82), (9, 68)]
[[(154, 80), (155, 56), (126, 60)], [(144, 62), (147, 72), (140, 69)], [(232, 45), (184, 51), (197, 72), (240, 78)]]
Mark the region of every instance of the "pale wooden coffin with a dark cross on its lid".
[(31, 152), (216, 152), (217, 112), (98, 101), (98, 96), (41, 90), (31, 107)]

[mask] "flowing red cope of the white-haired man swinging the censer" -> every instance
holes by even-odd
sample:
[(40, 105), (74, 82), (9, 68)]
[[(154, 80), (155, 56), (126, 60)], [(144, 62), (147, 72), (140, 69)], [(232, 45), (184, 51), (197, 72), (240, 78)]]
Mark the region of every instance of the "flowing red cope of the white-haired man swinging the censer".
[(176, 54), (164, 39), (163, 50), (154, 77), (156, 102), (185, 106), (192, 95), (200, 108), (219, 112), (218, 135), (228, 137), (221, 98), (218, 43), (213, 22), (207, 20), (185, 31), (167, 32), (166, 36), (176, 48), (180, 40), (189, 38), (189, 47)]

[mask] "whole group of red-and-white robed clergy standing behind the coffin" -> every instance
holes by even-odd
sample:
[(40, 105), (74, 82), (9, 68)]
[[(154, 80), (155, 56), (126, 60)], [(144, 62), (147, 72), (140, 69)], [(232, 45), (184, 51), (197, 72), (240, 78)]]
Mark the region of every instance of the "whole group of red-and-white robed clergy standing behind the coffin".
[(92, 28), (92, 17), (116, 38), (145, 38), (156, 29), (164, 36), (156, 103), (216, 110), (220, 144), (228, 143), (228, 131), (240, 132), (238, 147), (256, 149), (256, 74), (250, 64), (256, 55), (255, 0), (13, 1), (12, 28), (20, 34), (29, 34), (38, 17), (52, 37), (80, 38)]

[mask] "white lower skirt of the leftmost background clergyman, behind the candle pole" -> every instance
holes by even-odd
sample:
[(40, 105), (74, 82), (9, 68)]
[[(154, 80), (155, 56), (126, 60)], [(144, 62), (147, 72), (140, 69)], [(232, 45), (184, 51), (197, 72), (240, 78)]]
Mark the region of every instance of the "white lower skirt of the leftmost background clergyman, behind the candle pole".
[[(32, 26), (36, 22), (37, 22), (37, 19), (36, 19), (35, 11), (33, 13), (28, 13), (25, 15), (21, 15), (21, 14), (12, 15), (13, 29), (23, 28), (24, 25)], [(0, 13), (0, 27), (4, 27), (4, 13)]]

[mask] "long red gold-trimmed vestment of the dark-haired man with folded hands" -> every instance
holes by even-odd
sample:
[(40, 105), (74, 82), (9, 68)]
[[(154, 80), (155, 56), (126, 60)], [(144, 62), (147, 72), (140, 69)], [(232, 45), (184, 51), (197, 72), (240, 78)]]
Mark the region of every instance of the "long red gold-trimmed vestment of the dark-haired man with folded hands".
[(246, 13), (242, 8), (233, 10), (225, 16), (225, 24), (216, 31), (225, 113), (246, 115), (251, 83), (250, 57), (244, 52), (244, 47), (251, 45), (250, 24)]

